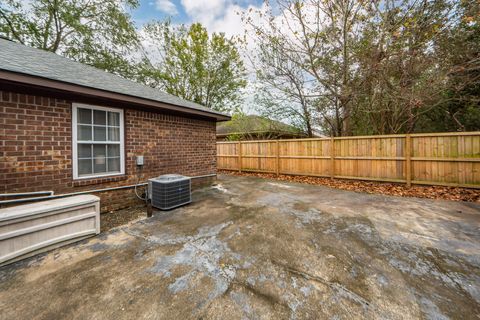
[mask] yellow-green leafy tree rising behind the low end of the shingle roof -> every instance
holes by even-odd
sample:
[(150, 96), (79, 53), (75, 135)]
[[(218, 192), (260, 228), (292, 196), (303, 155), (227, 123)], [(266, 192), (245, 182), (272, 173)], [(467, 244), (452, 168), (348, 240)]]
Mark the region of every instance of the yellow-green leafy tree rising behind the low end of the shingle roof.
[(189, 28), (150, 23), (144, 34), (156, 50), (146, 50), (141, 81), (207, 108), (238, 109), (246, 80), (234, 39), (209, 35), (199, 23)]

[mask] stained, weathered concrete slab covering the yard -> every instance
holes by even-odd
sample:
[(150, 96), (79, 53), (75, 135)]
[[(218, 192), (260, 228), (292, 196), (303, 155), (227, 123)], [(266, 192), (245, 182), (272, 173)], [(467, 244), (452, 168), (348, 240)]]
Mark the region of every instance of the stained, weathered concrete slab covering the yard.
[(478, 319), (480, 205), (220, 176), (0, 269), (1, 319)]

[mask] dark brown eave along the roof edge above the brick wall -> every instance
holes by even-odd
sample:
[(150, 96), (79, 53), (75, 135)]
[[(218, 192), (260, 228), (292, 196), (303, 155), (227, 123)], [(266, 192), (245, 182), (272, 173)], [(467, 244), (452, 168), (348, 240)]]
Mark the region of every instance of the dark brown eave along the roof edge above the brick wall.
[(118, 100), (126, 103), (143, 105), (146, 107), (151, 107), (159, 110), (212, 118), (212, 119), (215, 119), (215, 121), (231, 120), (231, 117), (229, 115), (223, 114), (220, 112), (215, 112), (215, 111), (210, 112), (210, 111), (204, 111), (199, 109), (193, 109), (185, 106), (174, 105), (167, 102), (160, 102), (160, 101), (145, 99), (141, 97), (125, 95), (117, 92), (85, 87), (77, 84), (32, 76), (32, 75), (23, 74), (23, 73), (0, 70), (0, 80), (15, 82), (23, 85), (36, 86), (36, 87), (41, 87), (45, 89), (60, 90), (64, 92), (81, 94), (81, 95), (90, 96), (90, 97), (99, 97), (99, 98), (109, 99), (109, 100)]

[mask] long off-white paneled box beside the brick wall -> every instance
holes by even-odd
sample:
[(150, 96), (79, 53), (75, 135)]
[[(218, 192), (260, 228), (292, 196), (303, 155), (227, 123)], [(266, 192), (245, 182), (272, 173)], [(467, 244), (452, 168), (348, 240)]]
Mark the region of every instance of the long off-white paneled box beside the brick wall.
[(0, 209), (0, 265), (100, 233), (100, 198), (92, 195)]

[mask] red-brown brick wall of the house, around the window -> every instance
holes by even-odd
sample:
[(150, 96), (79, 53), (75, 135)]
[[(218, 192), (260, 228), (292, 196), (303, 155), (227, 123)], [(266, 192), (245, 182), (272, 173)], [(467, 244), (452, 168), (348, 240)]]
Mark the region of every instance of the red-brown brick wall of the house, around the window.
[[(0, 193), (53, 190), (70, 193), (136, 183), (164, 173), (216, 172), (215, 122), (125, 109), (122, 176), (72, 179), (72, 101), (0, 92)], [(108, 107), (115, 107), (109, 106)], [(102, 211), (139, 203), (133, 189), (95, 193)]]

